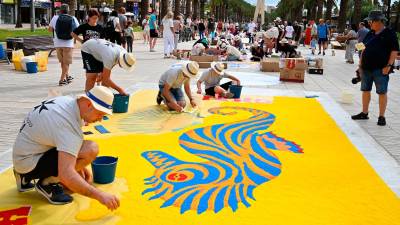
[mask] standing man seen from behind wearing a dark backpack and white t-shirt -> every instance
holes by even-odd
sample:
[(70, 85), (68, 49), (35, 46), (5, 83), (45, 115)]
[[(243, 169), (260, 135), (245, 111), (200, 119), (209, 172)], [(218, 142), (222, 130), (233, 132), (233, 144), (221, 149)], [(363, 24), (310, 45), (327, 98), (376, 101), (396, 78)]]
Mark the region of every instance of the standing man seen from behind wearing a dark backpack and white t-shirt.
[(54, 47), (57, 51), (57, 58), (61, 64), (61, 76), (59, 86), (69, 84), (73, 77), (69, 75), (69, 65), (72, 64), (72, 53), (74, 50), (74, 39), (72, 31), (79, 26), (78, 20), (68, 15), (69, 6), (62, 4), (60, 14), (55, 15), (49, 24), (48, 30), (54, 32)]

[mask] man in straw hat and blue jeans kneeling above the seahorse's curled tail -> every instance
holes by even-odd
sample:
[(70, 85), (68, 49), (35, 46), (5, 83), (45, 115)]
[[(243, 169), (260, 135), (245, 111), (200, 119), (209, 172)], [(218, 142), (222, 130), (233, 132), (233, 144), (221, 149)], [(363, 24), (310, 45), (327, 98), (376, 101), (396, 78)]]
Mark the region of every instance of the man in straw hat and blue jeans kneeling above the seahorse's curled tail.
[(190, 104), (192, 107), (196, 107), (190, 89), (190, 79), (195, 78), (198, 72), (199, 64), (193, 61), (165, 71), (158, 83), (160, 89), (157, 95), (157, 104), (160, 105), (164, 101), (169, 109), (182, 112), (186, 106), (186, 100), (182, 92), (182, 85), (184, 85)]

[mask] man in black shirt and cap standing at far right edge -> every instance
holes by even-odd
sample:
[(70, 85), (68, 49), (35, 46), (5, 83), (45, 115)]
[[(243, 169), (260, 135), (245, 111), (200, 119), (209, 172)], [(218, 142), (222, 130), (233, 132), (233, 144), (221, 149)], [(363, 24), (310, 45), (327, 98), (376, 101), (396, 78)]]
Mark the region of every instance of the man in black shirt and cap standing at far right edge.
[(364, 38), (365, 49), (361, 53), (358, 71), (361, 73), (362, 112), (352, 116), (353, 120), (367, 120), (371, 100), (372, 84), (375, 83), (379, 95), (378, 125), (385, 126), (387, 88), (389, 74), (399, 51), (396, 33), (385, 27), (386, 18), (380, 11), (371, 11), (368, 16), (371, 31)]

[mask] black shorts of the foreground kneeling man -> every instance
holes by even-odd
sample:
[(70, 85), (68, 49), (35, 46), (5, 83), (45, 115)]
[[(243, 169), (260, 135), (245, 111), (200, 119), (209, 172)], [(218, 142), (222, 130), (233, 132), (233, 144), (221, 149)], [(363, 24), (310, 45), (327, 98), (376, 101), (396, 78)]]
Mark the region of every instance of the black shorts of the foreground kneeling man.
[(25, 179), (35, 180), (58, 176), (58, 151), (52, 148), (39, 159), (36, 167), (29, 173), (22, 174)]

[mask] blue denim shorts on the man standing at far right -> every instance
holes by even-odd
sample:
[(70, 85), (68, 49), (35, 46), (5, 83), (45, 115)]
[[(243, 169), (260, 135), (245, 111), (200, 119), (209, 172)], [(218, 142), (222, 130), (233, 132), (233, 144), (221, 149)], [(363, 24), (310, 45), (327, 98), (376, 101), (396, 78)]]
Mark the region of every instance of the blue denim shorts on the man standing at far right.
[(373, 83), (375, 83), (377, 94), (386, 94), (389, 84), (389, 75), (384, 75), (382, 69), (363, 70), (361, 74), (361, 91), (371, 91)]

